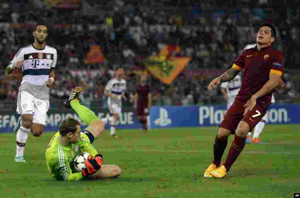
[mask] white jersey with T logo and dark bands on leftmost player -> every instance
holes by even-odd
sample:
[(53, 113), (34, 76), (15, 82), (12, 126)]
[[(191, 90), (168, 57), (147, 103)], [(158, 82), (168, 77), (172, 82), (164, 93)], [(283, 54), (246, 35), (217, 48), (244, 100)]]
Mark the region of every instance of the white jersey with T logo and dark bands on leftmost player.
[(44, 49), (36, 49), (33, 45), (23, 47), (14, 56), (10, 64), (24, 61), (22, 66), (23, 78), (19, 91), (27, 91), (36, 98), (49, 100), (50, 91), (46, 86), (50, 69), (54, 68), (57, 51), (48, 45)]

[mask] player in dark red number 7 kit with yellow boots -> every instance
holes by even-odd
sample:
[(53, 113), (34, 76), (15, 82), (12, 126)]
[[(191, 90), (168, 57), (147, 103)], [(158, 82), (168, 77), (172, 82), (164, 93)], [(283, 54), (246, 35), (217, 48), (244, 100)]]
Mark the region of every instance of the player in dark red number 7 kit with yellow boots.
[[(245, 49), (231, 69), (208, 85), (214, 89), (221, 82), (233, 79), (242, 69), (242, 86), (232, 106), (227, 110), (214, 140), (214, 161), (206, 169), (204, 177), (223, 178), (238, 155), (244, 149), (247, 133), (262, 119), (271, 104), (272, 91), (281, 86), (283, 52), (272, 48), (276, 38), (273, 25), (263, 23), (256, 37), (257, 45)], [(235, 134), (227, 158), (221, 158), (227, 146), (228, 136)]]

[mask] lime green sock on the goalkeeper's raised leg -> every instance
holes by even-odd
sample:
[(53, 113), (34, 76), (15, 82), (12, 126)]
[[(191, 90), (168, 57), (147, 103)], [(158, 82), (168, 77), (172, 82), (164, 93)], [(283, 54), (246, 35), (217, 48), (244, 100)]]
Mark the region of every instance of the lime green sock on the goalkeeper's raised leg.
[(86, 125), (90, 125), (95, 120), (100, 120), (94, 112), (80, 104), (78, 100), (72, 100), (70, 104), (72, 109), (79, 115), (80, 120)]

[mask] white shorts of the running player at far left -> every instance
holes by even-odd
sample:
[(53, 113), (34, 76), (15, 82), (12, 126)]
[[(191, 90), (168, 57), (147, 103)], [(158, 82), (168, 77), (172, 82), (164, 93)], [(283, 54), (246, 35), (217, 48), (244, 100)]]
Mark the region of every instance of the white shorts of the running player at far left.
[(49, 100), (35, 98), (27, 91), (19, 91), (16, 112), (22, 114), (33, 114), (33, 123), (46, 125), (46, 114), (49, 110)]

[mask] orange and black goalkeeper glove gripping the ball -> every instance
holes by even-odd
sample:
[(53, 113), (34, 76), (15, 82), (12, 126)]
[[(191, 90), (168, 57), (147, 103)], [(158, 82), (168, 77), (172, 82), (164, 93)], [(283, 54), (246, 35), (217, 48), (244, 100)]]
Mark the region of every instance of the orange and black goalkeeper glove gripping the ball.
[(85, 167), (81, 170), (81, 173), (84, 177), (90, 176), (96, 173), (103, 164), (103, 157), (101, 154), (89, 155), (88, 158), (85, 160)]

